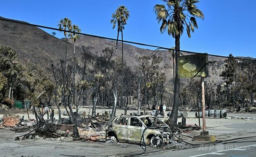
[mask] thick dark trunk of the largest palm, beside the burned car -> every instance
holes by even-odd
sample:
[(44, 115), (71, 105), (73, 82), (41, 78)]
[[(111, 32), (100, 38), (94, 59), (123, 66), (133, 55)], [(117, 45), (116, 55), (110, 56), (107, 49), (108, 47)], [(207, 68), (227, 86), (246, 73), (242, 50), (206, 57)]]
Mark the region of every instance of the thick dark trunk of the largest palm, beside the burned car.
[(177, 124), (178, 109), (179, 109), (179, 38), (180, 35), (175, 35), (175, 90), (174, 90), (174, 102), (169, 122)]

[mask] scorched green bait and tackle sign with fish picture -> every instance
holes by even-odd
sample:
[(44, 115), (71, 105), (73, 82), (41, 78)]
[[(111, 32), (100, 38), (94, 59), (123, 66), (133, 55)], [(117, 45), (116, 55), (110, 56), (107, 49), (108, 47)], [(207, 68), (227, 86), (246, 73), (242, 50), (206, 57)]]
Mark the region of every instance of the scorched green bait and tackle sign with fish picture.
[(207, 77), (208, 55), (184, 55), (179, 56), (179, 78)]

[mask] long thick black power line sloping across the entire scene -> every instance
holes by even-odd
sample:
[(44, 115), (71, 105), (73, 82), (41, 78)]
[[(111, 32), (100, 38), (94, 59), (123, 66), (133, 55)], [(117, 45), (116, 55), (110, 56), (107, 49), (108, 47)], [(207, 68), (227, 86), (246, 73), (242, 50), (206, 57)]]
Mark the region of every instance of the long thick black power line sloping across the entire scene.
[[(62, 29), (58, 29), (58, 28), (53, 28), (53, 27), (47, 27), (47, 26), (43, 26), (43, 25), (35, 25), (35, 24), (31, 24), (31, 23), (26, 23), (23, 21), (17, 21), (17, 20), (12, 20), (12, 19), (7, 19), (7, 18), (0, 18), (1, 21), (8, 21), (8, 22), (12, 22), (12, 23), (19, 23), (19, 24), (23, 24), (23, 25), (30, 25), (30, 26), (35, 26), (35, 27), (39, 27), (39, 28), (46, 28), (46, 29), (50, 29), (50, 30), (57, 30), (57, 31), (62, 31), (62, 32), (69, 32), (69, 33), (74, 33), (74, 34), (79, 34), (79, 35), (86, 35), (86, 36), (90, 36), (90, 37), (96, 37), (96, 38), (101, 38), (101, 39), (108, 39), (108, 40), (113, 40), (113, 41), (117, 41), (117, 39), (113, 39), (113, 38), (109, 38), (109, 37), (102, 37), (102, 36), (97, 36), (97, 35), (90, 35), (90, 34), (85, 34), (85, 33), (81, 33), (81, 32), (73, 32), (70, 30), (62, 30)], [(138, 42), (130, 42), (130, 41), (126, 41), (126, 40), (118, 40), (120, 42), (125, 42), (125, 43), (129, 43), (129, 44), (136, 44), (136, 45), (141, 45), (141, 46), (150, 46), (150, 47), (156, 47), (158, 49), (164, 49), (164, 50), (171, 50), (171, 51), (180, 51), (180, 52), (185, 52), (185, 53), (194, 53), (194, 54), (206, 54), (206, 53), (199, 53), (199, 52), (193, 52), (193, 51), (184, 51), (184, 50), (176, 50), (173, 48), (166, 48), (166, 47), (161, 47), (161, 46), (155, 46), (155, 45), (149, 45), (149, 44), (143, 44), (143, 43), (138, 43)], [(214, 57), (221, 57), (221, 58), (231, 58), (228, 56), (222, 56), (222, 55), (213, 55), (213, 54), (208, 54), (207, 55), (211, 55)], [(256, 61), (256, 60), (252, 60), (252, 59), (246, 59), (246, 58), (238, 58), (238, 57), (232, 57), (234, 59), (237, 60), (250, 60), (250, 61)]]

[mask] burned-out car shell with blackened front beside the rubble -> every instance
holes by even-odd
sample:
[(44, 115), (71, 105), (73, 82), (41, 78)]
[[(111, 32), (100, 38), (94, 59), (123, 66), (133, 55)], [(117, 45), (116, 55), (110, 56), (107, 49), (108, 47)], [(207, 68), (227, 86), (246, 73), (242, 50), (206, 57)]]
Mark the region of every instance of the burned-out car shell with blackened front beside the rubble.
[(146, 144), (157, 147), (170, 143), (175, 137), (171, 128), (150, 115), (120, 115), (106, 124), (106, 136), (119, 142)]

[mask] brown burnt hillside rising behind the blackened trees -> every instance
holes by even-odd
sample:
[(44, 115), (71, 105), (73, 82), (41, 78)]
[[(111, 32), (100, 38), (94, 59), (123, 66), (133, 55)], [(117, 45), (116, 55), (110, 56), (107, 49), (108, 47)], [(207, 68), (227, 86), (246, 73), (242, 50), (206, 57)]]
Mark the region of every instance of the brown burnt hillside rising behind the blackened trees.
[[(0, 36), (0, 44), (11, 46), (16, 50), (19, 58), (25, 65), (38, 65), (48, 72), (50, 72), (51, 63), (64, 58), (65, 55), (65, 42), (37, 27), (0, 21)], [(99, 55), (104, 48), (115, 47), (115, 42), (95, 37), (81, 36), (76, 42), (76, 45), (76, 54), (79, 59), (79, 56), (81, 56), (81, 46), (90, 46), (92, 52)], [(68, 44), (67, 51), (68, 54), (72, 55), (72, 43)], [(139, 56), (150, 55), (151, 53), (152, 50), (124, 44), (124, 60), (127, 62), (127, 65), (131, 67), (138, 65), (137, 60)], [(187, 53), (183, 54), (187, 55)], [(117, 55), (121, 55), (121, 44), (118, 48)], [(171, 54), (168, 51), (159, 51), (158, 55), (163, 56), (164, 61), (162, 65), (165, 63), (172, 65), (172, 61), (169, 60)], [(222, 70), (225, 58), (209, 56), (208, 60), (211, 61), (211, 64), (209, 65), (210, 77), (207, 79), (219, 82), (220, 77), (218, 75)], [(167, 80), (172, 78), (172, 67), (165, 72)], [(183, 81), (186, 82), (186, 79), (183, 79)]]

